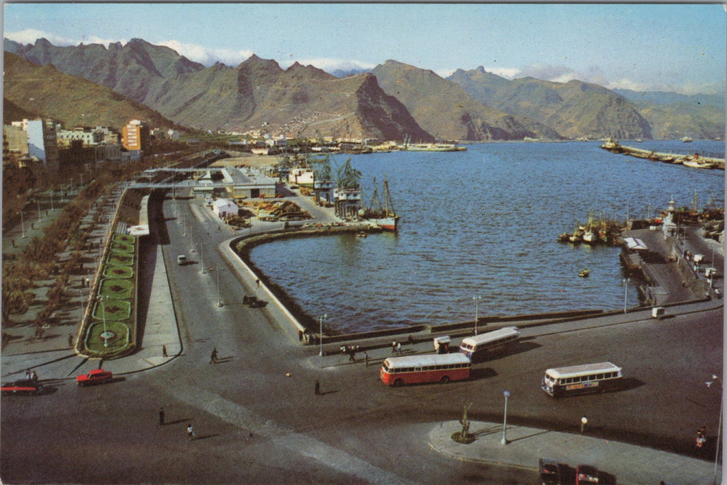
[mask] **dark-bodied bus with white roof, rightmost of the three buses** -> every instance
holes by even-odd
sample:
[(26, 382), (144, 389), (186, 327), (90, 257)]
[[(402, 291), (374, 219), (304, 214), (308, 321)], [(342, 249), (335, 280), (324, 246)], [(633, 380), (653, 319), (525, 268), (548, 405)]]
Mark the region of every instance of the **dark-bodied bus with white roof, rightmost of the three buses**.
[(621, 367), (611, 362), (571, 365), (548, 369), (542, 378), (542, 389), (554, 397), (589, 392), (606, 392), (622, 385)]

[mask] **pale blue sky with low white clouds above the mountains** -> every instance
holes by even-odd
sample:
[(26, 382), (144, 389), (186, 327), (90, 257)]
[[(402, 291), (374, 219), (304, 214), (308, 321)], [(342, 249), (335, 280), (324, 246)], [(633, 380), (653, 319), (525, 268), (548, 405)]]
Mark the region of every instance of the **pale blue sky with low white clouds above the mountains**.
[(724, 4), (4, 3), (4, 37), (57, 46), (142, 38), (190, 60), (253, 53), (369, 69), (397, 60), (442, 77), (579, 79), (609, 89), (725, 92)]

